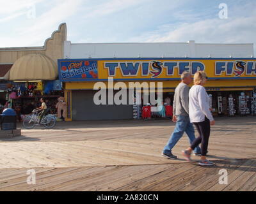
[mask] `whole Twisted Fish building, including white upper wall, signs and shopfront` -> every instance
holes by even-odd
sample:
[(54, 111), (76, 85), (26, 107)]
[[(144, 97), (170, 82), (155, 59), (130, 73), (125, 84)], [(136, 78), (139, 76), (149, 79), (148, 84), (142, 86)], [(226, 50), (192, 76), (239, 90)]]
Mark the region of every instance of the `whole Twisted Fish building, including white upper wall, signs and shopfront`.
[[(58, 60), (59, 78), (65, 84), (67, 120), (132, 119), (138, 91), (127, 105), (99, 105), (93, 98), (99, 90), (118, 93), (132, 82), (139, 86), (163, 83), (163, 99), (173, 99), (183, 71), (206, 71), (205, 85), (214, 115), (255, 114), (256, 60), (253, 44), (188, 43), (81, 43), (64, 42)], [(111, 80), (109, 84), (109, 78)], [(129, 89), (126, 90), (127, 93)], [(151, 89), (149, 92), (156, 92)], [(129, 95), (129, 94), (128, 94)], [(144, 96), (144, 95), (143, 95)], [(145, 97), (145, 96), (144, 96)], [(130, 100), (130, 101), (129, 101)], [(128, 103), (131, 102), (131, 103)], [(162, 102), (160, 102), (162, 103)], [(172, 103), (172, 102), (171, 102)], [(171, 104), (172, 105), (172, 104)], [(141, 109), (141, 106), (138, 107)], [(136, 118), (140, 118), (138, 111)]]

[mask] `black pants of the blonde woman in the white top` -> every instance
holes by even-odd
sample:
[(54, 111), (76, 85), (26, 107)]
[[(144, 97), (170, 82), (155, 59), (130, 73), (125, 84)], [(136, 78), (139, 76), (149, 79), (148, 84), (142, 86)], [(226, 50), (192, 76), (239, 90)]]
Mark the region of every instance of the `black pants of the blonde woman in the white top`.
[(206, 156), (211, 131), (210, 120), (205, 117), (203, 122), (193, 122), (193, 124), (195, 124), (199, 136), (191, 144), (191, 149), (194, 150), (201, 143), (201, 155)]

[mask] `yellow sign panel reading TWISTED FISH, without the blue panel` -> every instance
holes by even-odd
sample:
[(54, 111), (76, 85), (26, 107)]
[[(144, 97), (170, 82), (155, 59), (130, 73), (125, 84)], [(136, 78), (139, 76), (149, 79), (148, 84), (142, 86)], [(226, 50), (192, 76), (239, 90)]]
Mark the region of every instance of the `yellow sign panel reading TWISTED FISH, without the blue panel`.
[(212, 79), (256, 78), (255, 59), (157, 59), (98, 61), (99, 79), (179, 80), (184, 71), (204, 70)]

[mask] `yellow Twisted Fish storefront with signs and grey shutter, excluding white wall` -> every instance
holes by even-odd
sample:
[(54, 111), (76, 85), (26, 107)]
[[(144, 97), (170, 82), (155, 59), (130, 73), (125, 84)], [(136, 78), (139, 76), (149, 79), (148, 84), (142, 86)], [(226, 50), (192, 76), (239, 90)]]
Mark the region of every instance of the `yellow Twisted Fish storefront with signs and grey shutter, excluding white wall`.
[[(214, 115), (255, 113), (254, 58), (59, 59), (58, 68), (59, 78), (65, 84), (67, 120), (132, 119), (134, 105), (97, 105), (93, 100), (95, 94), (99, 89), (106, 89), (106, 99), (109, 101), (108, 92), (115, 90), (115, 95), (125, 87), (130, 95), (133, 92), (133, 97), (125, 100), (136, 101), (136, 89), (132, 88), (130, 83), (138, 82), (136, 86), (143, 87), (147, 84), (148, 90), (157, 93), (157, 82), (161, 82), (163, 101), (160, 103), (163, 105), (167, 96), (172, 101), (181, 73), (190, 71), (195, 74), (198, 70), (206, 71), (209, 77), (205, 88), (212, 96), (211, 106)], [(110, 80), (110, 85), (109, 77), (113, 79), (112, 82)], [(153, 84), (154, 86), (151, 86)], [(93, 90), (93, 87), (96, 90)], [(130, 96), (129, 94), (127, 95)]]

